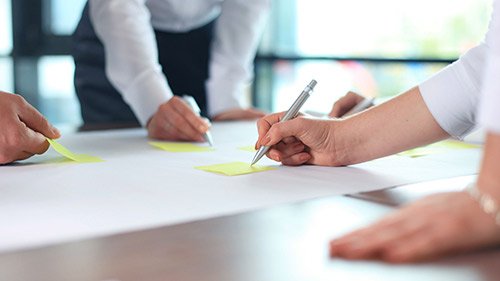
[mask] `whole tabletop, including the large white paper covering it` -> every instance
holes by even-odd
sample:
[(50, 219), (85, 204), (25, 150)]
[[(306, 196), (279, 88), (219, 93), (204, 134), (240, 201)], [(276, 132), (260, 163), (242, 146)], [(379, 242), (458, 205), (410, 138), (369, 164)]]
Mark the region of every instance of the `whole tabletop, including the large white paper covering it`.
[[(477, 171), (479, 151), (341, 168), (281, 167), (263, 159), (276, 172), (234, 178), (192, 169), (250, 161), (253, 153), (235, 148), (253, 143), (254, 125), (214, 125), (213, 154), (155, 150), (134, 129), (61, 140), (104, 163), (54, 161), (57, 155), (48, 152), (0, 167), (0, 279), (408, 280), (424, 274), (426, 280), (488, 280), (498, 274), (496, 249), (409, 266), (327, 256), (330, 238), (425, 192), (463, 188), (471, 180), (466, 175)], [(373, 192), (394, 186), (400, 187)]]

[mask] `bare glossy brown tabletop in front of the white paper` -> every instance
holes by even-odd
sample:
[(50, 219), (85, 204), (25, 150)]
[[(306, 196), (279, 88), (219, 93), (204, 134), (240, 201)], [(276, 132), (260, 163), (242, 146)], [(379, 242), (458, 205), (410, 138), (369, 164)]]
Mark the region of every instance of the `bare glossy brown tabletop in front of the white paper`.
[[(401, 189), (413, 190), (420, 197), (420, 188), (455, 190), (470, 179), (431, 181)], [(386, 191), (391, 192), (401, 190)], [(498, 280), (500, 248), (416, 265), (328, 258), (330, 238), (392, 209), (394, 206), (345, 196), (315, 199), (5, 253), (0, 255), (0, 276), (10, 281)]]

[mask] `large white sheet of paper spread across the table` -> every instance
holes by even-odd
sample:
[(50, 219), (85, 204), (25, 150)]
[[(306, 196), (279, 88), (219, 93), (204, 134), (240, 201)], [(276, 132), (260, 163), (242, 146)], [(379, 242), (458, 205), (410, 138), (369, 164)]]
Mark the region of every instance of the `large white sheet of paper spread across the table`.
[[(80, 164), (53, 149), (0, 166), (0, 251), (236, 214), (277, 204), (477, 173), (480, 149), (410, 158), (390, 156), (349, 167), (286, 167), (226, 176), (195, 169), (248, 162), (254, 122), (213, 125), (215, 151), (172, 153), (143, 129), (65, 135), (75, 153), (105, 160)], [(203, 144), (201, 144), (203, 145)]]

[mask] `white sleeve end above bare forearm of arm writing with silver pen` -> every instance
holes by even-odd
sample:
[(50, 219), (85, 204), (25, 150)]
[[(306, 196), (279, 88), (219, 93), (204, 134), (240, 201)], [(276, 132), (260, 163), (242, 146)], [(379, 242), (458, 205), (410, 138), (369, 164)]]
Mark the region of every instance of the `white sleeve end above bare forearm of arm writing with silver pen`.
[(474, 130), (476, 124), (478, 93), (468, 80), (463, 65), (455, 62), (419, 85), (422, 98), (439, 126), (460, 139)]

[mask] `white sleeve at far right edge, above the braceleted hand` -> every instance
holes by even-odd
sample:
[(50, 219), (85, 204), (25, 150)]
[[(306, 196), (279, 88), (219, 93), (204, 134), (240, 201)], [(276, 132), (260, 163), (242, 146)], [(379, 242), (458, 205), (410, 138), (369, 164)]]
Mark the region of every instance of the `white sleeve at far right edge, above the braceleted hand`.
[(488, 132), (500, 134), (500, 1), (493, 4), (486, 34), (488, 62), (479, 105), (479, 123)]

